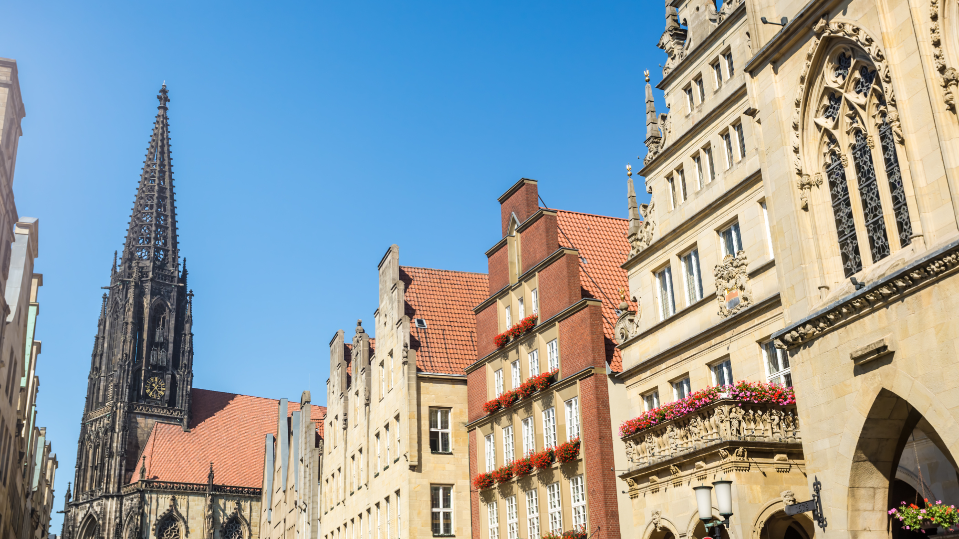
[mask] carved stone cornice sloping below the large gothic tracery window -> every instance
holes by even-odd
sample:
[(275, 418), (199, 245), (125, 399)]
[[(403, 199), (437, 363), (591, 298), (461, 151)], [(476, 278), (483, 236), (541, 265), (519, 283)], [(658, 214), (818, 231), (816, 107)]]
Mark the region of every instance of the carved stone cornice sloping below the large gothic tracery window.
[(792, 349), (870, 315), (934, 284), (959, 268), (959, 240), (843, 297), (773, 334), (777, 348)]

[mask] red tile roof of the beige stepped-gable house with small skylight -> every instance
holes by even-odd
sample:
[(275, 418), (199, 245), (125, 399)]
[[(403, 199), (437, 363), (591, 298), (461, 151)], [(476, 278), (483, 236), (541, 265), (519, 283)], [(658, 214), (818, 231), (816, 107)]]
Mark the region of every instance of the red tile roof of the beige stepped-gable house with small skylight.
[[(486, 273), (400, 267), (406, 284), (405, 313), (410, 319), (410, 347), (416, 368), (425, 372), (465, 374), (476, 361), (476, 315), (473, 307), (486, 299)], [(426, 329), (413, 318), (426, 320)]]

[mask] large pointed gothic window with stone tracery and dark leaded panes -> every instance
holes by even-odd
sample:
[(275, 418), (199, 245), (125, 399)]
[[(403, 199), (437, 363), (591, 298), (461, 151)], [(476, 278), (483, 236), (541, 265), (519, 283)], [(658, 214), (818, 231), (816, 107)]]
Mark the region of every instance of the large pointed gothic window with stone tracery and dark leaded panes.
[(807, 130), (814, 132), (807, 141), (815, 141), (819, 155), (812, 168), (829, 186), (830, 221), (850, 277), (912, 241), (897, 153), (899, 115), (873, 59), (850, 42), (831, 46), (808, 89)]

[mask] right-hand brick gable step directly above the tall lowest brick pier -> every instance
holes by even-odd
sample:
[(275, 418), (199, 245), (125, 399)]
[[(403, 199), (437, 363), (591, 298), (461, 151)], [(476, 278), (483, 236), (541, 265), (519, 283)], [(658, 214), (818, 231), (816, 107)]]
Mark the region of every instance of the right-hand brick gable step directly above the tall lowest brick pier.
[(605, 369), (606, 346), (602, 335), (602, 313), (598, 304), (589, 305), (559, 322), (559, 364), (560, 378), (589, 366)]

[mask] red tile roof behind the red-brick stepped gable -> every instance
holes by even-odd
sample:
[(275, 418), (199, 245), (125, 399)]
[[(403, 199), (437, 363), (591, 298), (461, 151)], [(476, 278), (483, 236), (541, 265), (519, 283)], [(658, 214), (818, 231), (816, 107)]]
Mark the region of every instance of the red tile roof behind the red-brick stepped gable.
[[(622, 357), (613, 331), (620, 305), (620, 289), (629, 290), (626, 270), (620, 265), (629, 255), (626, 231), (629, 221), (586, 213), (556, 210), (559, 245), (579, 249), (579, 280), (584, 289), (602, 301), (603, 334), (610, 368), (620, 372)], [(479, 303), (479, 302), (478, 302)]]

